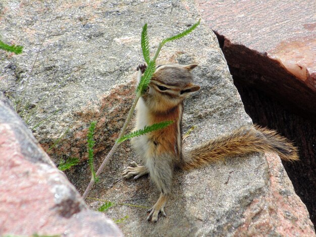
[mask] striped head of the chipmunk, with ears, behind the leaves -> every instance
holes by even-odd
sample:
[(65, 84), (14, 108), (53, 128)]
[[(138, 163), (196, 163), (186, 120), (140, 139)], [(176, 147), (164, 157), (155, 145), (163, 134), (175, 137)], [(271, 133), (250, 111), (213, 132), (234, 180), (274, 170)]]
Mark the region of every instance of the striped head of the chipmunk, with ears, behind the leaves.
[(200, 86), (193, 84), (193, 70), (197, 64), (157, 65), (143, 99), (154, 112), (168, 112)]

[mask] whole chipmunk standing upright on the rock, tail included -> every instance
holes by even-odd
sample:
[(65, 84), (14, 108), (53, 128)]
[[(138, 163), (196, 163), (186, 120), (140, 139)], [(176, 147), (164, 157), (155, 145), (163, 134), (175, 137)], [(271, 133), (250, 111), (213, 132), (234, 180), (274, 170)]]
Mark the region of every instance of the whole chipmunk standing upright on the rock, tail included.
[[(162, 121), (174, 123), (162, 130), (133, 138), (131, 143), (141, 156), (144, 165), (132, 162), (123, 171), (126, 179), (134, 180), (149, 173), (161, 194), (158, 201), (148, 210), (148, 221), (156, 222), (159, 213), (166, 216), (164, 207), (171, 193), (172, 177), (175, 168), (190, 170), (223, 160), (226, 157), (246, 155), (254, 152), (276, 152), (283, 160), (298, 160), (297, 149), (286, 138), (275, 131), (258, 126), (242, 127), (229, 135), (186, 150), (182, 148), (181, 120), (183, 100), (200, 86), (193, 84), (191, 71), (196, 64), (163, 64), (156, 67), (146, 92), (136, 106), (136, 128)], [(137, 67), (144, 73), (146, 65)]]

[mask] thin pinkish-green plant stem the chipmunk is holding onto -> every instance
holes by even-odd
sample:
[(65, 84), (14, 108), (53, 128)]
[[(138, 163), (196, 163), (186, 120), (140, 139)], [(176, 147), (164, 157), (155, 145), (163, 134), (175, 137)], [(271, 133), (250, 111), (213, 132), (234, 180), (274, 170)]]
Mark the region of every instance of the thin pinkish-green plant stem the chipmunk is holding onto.
[[(137, 77), (138, 77), (138, 79), (140, 80), (140, 77), (141, 77), (141, 70), (138, 71)], [(126, 128), (127, 128), (127, 125), (129, 124), (129, 122), (130, 122), (130, 120), (131, 120), (131, 118), (132, 118), (132, 115), (133, 115), (133, 112), (134, 112), (134, 110), (135, 110), (137, 101), (138, 101), (138, 99), (139, 99), (140, 97), (141, 97), (141, 94), (140, 94), (140, 93), (137, 93), (137, 94), (136, 94), (136, 97), (135, 97), (135, 99), (134, 99), (134, 101), (133, 101), (132, 107), (131, 107), (131, 109), (129, 110), (129, 113), (128, 113), (128, 115), (127, 115), (127, 118), (126, 118), (126, 120), (125, 120), (124, 126), (123, 126), (123, 128), (122, 128), (122, 130), (121, 130), (121, 133), (120, 133), (118, 139), (120, 139), (120, 138), (122, 138), (122, 137), (124, 136), (125, 130), (126, 130)], [(96, 173), (95, 173), (95, 176), (96, 176), (96, 177), (102, 172), (103, 168), (106, 166), (106, 164), (108, 163), (109, 159), (112, 157), (112, 155), (113, 155), (114, 152), (116, 151), (116, 148), (121, 144), (121, 143), (119, 143), (119, 142), (117, 142), (117, 141), (118, 141), (118, 140), (116, 140), (116, 142), (115, 142), (114, 146), (112, 147), (111, 151), (109, 152), (109, 154), (107, 155), (107, 157), (103, 160), (101, 166), (100, 166), (100, 167), (98, 168), (98, 170), (96, 171)], [(88, 185), (88, 187), (86, 188), (86, 190), (84, 191), (84, 193), (83, 193), (83, 195), (82, 195), (83, 200), (85, 200), (85, 198), (86, 198), (86, 196), (88, 195), (88, 193), (89, 193), (90, 189), (92, 188), (93, 184), (94, 184), (94, 180), (91, 180), (90, 183), (89, 183), (89, 185)]]

